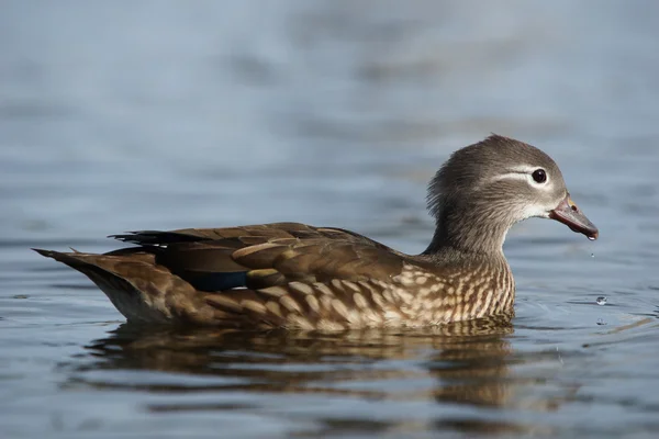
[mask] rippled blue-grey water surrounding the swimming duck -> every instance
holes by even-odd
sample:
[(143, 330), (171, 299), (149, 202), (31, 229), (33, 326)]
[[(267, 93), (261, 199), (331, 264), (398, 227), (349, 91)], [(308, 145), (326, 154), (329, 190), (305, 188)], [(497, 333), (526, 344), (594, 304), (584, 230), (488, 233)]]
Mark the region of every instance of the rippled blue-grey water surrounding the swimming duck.
[[(649, 0), (4, 1), (0, 436), (654, 437), (658, 19)], [(300, 221), (418, 252), (426, 181), (490, 132), (550, 154), (601, 230), (510, 233), (510, 326), (148, 330), (29, 250)]]

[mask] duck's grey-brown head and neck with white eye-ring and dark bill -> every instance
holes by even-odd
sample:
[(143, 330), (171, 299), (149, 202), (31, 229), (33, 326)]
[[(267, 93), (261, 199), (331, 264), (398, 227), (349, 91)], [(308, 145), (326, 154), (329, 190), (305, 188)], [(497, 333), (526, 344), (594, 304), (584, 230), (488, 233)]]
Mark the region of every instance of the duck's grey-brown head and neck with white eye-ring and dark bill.
[(533, 216), (597, 238), (556, 162), (534, 146), (499, 135), (450, 156), (431, 181), (428, 209), (437, 221), (431, 247), (500, 250), (509, 228)]

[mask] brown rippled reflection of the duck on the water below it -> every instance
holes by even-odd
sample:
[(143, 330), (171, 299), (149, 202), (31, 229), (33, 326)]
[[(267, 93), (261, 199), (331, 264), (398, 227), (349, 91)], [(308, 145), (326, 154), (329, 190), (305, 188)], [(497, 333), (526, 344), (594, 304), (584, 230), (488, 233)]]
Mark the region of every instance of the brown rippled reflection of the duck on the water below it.
[[(560, 399), (538, 403), (535, 398), (535, 406), (529, 407), (525, 398), (515, 396), (528, 381), (511, 375), (511, 367), (520, 361), (506, 338), (512, 333), (507, 317), (423, 330), (334, 334), (153, 329), (122, 325), (108, 338), (87, 347), (93, 361), (85, 365), (78, 362), (72, 375), (77, 384), (150, 392), (312, 393), (368, 401), (434, 401), (454, 407), (518, 408), (524, 405), (525, 409), (541, 410), (556, 407)], [(185, 375), (175, 383), (147, 380), (149, 384), (144, 384), (101, 382), (96, 373), (93, 380), (79, 373), (91, 369)], [(188, 380), (190, 375), (202, 380)], [(226, 408), (224, 403), (220, 406), (154, 405), (149, 409)], [(469, 427), (498, 432), (521, 428), (500, 419), (462, 424), (460, 419), (454, 423), (442, 418), (434, 428), (465, 430)]]

